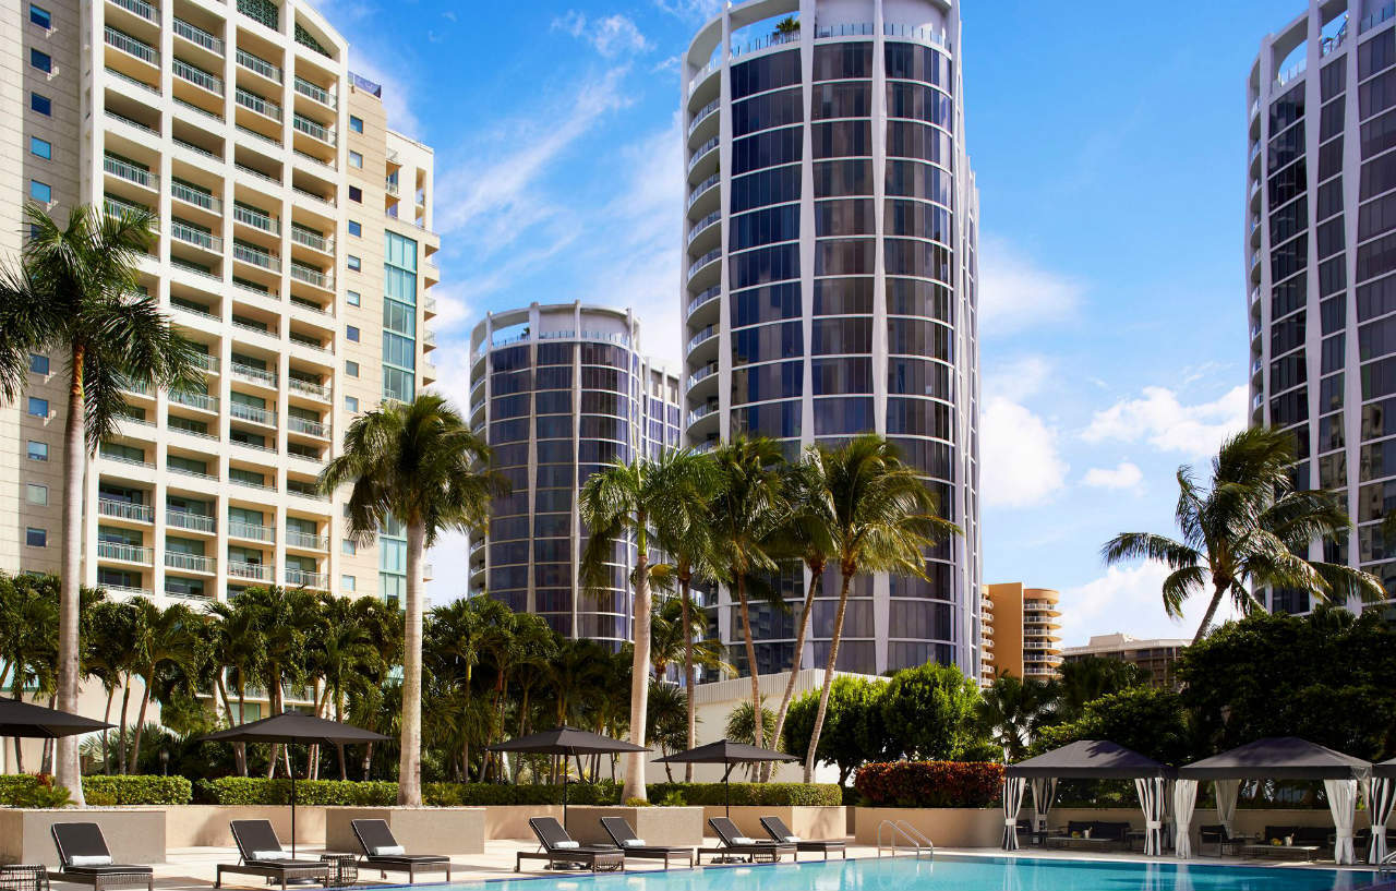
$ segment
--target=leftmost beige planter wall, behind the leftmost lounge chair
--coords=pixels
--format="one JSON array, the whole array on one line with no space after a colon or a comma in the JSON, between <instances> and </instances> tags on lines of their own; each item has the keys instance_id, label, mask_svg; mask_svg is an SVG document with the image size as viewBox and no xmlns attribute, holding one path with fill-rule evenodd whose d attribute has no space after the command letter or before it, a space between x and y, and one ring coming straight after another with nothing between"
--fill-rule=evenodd
<instances>
[{"instance_id":1,"label":"leftmost beige planter wall, behind the leftmost lounge chair","mask_svg":"<svg viewBox=\"0 0 1396 891\"><path fill-rule=\"evenodd\" d=\"M163 807L75 807L21 810L0 807L0 863L59 864L50 827L95 823L119 863L165 862Z\"/></svg>"}]
</instances>

